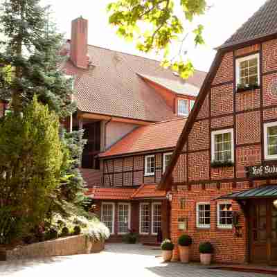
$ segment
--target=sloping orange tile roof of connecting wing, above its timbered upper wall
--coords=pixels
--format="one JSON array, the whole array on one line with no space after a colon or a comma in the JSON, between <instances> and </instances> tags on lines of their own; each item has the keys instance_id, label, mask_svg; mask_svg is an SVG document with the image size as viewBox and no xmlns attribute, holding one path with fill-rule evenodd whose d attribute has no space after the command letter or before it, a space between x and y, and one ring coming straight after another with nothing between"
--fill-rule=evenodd
<instances>
[{"instance_id":1,"label":"sloping orange tile roof of connecting wing, above its timbered upper wall","mask_svg":"<svg viewBox=\"0 0 277 277\"><path fill-rule=\"evenodd\" d=\"M109 150L100 153L99 157L175 148L185 123L186 118L177 118L138 127L112 145Z\"/></svg>"}]
</instances>

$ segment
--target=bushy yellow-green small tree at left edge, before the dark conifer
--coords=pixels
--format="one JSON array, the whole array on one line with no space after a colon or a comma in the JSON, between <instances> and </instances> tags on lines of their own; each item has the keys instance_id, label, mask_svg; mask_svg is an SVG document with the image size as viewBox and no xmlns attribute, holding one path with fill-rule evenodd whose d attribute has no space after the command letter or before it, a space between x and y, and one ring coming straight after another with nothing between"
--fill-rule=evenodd
<instances>
[{"instance_id":1,"label":"bushy yellow-green small tree at left edge, before the dark conifer","mask_svg":"<svg viewBox=\"0 0 277 277\"><path fill-rule=\"evenodd\" d=\"M35 97L0 122L0 243L41 224L60 189L67 150L59 120Z\"/></svg>"}]
</instances>

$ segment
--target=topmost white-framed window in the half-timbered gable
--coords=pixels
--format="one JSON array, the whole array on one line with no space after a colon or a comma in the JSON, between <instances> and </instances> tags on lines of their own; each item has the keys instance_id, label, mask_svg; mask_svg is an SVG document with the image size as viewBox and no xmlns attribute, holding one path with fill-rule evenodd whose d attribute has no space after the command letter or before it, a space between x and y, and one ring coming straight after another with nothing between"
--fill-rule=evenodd
<instances>
[{"instance_id":1,"label":"topmost white-framed window in the half-timbered gable","mask_svg":"<svg viewBox=\"0 0 277 277\"><path fill-rule=\"evenodd\" d=\"M235 60L237 86L249 87L260 84L259 57L257 53Z\"/></svg>"}]
</instances>

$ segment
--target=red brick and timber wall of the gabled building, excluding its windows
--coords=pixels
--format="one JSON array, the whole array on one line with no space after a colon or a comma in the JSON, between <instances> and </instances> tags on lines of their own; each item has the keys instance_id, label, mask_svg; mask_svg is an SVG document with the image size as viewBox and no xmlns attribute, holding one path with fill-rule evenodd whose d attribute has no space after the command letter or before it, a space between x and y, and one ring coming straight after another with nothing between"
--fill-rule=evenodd
<instances>
[{"instance_id":1,"label":"red brick and timber wall of the gabled building, excluding its windows","mask_svg":"<svg viewBox=\"0 0 277 277\"><path fill-rule=\"evenodd\" d=\"M178 172L174 172L172 187L171 237L176 243L180 235L178 218L187 217L188 233L194 241L193 260L199 260L199 243L206 240L211 240L215 246L215 262L247 262L249 259L247 217L242 213L238 203L233 202L233 210L241 215L240 237L235 236L234 229L217 228L216 209L220 200L215 199L235 191L276 184L274 180L249 181L245 175L245 166L265 161L263 124L277 121L277 96L272 93L272 84L276 82L277 77L276 46L277 39L274 39L230 50L223 55L211 84L206 87L204 107L200 108L202 113L194 122L195 126L202 126L199 127L199 134L206 141L202 141L197 147L195 141L190 141L195 140L195 136L189 134L181 152L183 158L179 158L177 166L184 168L181 172L182 178ZM260 88L237 92L235 59L253 53L260 54ZM207 107L208 116L203 116L207 114L203 113ZM235 166L213 169L211 132L227 128L233 128L234 131ZM179 206L181 198L186 200L184 211ZM196 202L211 202L211 228L208 230L196 227ZM174 253L177 258L177 249Z\"/></svg>"}]
</instances>

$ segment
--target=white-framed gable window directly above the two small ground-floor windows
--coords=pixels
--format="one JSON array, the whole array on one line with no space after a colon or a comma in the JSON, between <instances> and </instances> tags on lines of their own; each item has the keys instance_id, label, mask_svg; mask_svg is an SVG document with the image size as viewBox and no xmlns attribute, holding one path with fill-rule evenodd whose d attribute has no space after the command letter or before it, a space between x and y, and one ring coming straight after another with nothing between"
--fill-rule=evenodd
<instances>
[{"instance_id":1,"label":"white-framed gable window directly above the two small ground-floor windows","mask_svg":"<svg viewBox=\"0 0 277 277\"><path fill-rule=\"evenodd\" d=\"M212 132L212 161L234 161L233 129Z\"/></svg>"}]
</instances>

